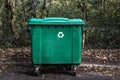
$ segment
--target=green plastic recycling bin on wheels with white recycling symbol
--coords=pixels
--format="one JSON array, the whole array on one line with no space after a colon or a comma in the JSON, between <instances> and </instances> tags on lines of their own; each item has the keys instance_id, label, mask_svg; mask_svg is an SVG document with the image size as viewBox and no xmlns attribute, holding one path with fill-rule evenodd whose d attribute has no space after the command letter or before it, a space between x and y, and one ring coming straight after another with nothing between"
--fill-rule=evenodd
<instances>
[{"instance_id":1,"label":"green plastic recycling bin on wheels with white recycling symbol","mask_svg":"<svg viewBox=\"0 0 120 80\"><path fill-rule=\"evenodd\" d=\"M84 20L68 18L31 18L32 62L38 72L42 65L79 65L82 59Z\"/></svg>"}]
</instances>

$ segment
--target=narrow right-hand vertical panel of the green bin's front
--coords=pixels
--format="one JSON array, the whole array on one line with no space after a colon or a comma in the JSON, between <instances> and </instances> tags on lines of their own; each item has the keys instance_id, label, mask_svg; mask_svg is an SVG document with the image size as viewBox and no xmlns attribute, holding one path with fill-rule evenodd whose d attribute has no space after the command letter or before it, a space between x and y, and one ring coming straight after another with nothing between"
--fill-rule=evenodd
<instances>
[{"instance_id":1,"label":"narrow right-hand vertical panel of the green bin's front","mask_svg":"<svg viewBox=\"0 0 120 80\"><path fill-rule=\"evenodd\" d=\"M73 27L73 64L80 64L82 58L82 27Z\"/></svg>"}]
</instances>

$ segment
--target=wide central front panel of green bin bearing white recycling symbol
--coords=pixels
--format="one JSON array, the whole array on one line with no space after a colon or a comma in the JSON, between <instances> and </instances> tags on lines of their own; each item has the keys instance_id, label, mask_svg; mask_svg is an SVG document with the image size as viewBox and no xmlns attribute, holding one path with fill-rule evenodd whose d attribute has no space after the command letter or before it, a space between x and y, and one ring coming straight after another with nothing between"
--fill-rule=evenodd
<instances>
[{"instance_id":1,"label":"wide central front panel of green bin bearing white recycling symbol","mask_svg":"<svg viewBox=\"0 0 120 80\"><path fill-rule=\"evenodd\" d=\"M64 26L44 26L41 29L42 64L72 63L72 29Z\"/></svg>"}]
</instances>

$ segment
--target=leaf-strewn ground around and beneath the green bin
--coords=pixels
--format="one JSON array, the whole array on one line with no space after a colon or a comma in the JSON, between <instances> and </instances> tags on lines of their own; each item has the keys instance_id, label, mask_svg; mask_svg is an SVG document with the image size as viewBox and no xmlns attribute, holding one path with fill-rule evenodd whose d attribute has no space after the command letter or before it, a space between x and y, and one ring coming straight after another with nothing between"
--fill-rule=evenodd
<instances>
[{"instance_id":1,"label":"leaf-strewn ground around and beneath the green bin","mask_svg":"<svg viewBox=\"0 0 120 80\"><path fill-rule=\"evenodd\" d=\"M0 80L120 80L120 49L83 50L82 56L76 76L54 68L37 77L30 48L0 49Z\"/></svg>"}]
</instances>

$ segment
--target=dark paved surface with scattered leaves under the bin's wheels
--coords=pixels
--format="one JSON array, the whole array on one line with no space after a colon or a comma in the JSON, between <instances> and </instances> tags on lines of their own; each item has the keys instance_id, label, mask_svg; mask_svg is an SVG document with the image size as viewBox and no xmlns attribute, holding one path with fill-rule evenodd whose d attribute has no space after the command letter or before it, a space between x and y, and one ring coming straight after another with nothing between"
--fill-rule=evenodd
<instances>
[{"instance_id":1,"label":"dark paved surface with scattered leaves under the bin's wheels","mask_svg":"<svg viewBox=\"0 0 120 80\"><path fill-rule=\"evenodd\" d=\"M120 76L112 76L87 68L85 70L82 67L76 76L69 71L57 71L56 69L44 70L40 76L36 76L33 67L19 65L1 72L0 80L120 80Z\"/></svg>"}]
</instances>

